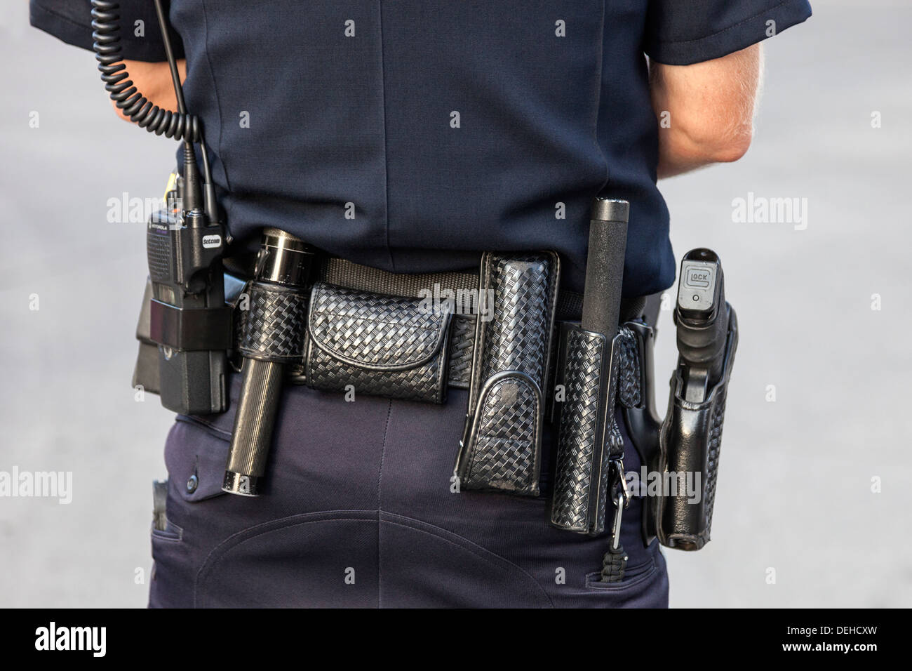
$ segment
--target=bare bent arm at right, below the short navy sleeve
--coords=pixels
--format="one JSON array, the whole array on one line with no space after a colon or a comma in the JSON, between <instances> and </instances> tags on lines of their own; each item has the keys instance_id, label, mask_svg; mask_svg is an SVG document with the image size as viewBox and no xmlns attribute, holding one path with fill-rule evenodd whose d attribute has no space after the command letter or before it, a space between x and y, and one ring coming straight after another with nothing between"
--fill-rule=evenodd
<instances>
[{"instance_id":1,"label":"bare bent arm at right, below the short navy sleeve","mask_svg":"<svg viewBox=\"0 0 912 671\"><path fill-rule=\"evenodd\" d=\"M740 159L751 145L761 77L760 45L689 66L650 63L658 177Z\"/></svg>"}]
</instances>

